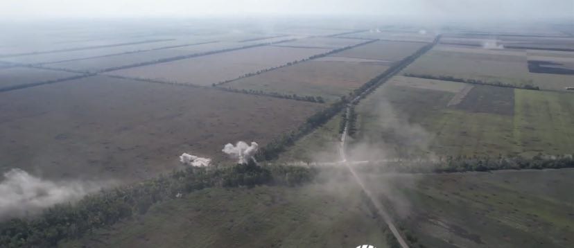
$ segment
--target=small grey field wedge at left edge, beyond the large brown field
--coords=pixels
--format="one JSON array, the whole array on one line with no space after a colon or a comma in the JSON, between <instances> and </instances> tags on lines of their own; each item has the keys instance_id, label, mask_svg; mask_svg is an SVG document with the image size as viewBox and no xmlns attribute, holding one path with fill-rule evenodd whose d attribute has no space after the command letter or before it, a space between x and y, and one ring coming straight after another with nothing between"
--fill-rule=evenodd
<instances>
[{"instance_id":1,"label":"small grey field wedge at left edge, beyond the large brown field","mask_svg":"<svg viewBox=\"0 0 574 248\"><path fill-rule=\"evenodd\" d=\"M78 76L78 74L28 67L4 68L0 69L0 91L10 87L30 85L62 78L71 78L73 76Z\"/></svg>"}]
</instances>

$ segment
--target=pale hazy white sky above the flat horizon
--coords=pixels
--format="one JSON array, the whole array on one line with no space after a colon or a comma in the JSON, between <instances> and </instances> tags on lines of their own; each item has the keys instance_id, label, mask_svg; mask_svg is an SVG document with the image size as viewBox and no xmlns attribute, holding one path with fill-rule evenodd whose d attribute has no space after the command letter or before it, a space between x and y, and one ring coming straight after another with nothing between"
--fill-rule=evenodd
<instances>
[{"instance_id":1,"label":"pale hazy white sky above the flat horizon","mask_svg":"<svg viewBox=\"0 0 574 248\"><path fill-rule=\"evenodd\" d=\"M574 0L0 0L1 19L198 17L211 15L379 17L574 17Z\"/></svg>"}]
</instances>

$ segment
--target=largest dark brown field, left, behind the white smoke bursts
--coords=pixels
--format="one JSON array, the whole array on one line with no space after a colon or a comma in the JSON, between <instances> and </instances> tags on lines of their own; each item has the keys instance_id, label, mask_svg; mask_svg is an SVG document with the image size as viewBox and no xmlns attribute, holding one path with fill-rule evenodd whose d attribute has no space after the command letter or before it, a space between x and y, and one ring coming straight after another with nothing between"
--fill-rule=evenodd
<instances>
[{"instance_id":1,"label":"largest dark brown field, left, behind the white smoke bursts","mask_svg":"<svg viewBox=\"0 0 574 248\"><path fill-rule=\"evenodd\" d=\"M323 105L95 76L0 93L0 170L134 181L189 152L229 161L228 142L265 145Z\"/></svg>"}]
</instances>

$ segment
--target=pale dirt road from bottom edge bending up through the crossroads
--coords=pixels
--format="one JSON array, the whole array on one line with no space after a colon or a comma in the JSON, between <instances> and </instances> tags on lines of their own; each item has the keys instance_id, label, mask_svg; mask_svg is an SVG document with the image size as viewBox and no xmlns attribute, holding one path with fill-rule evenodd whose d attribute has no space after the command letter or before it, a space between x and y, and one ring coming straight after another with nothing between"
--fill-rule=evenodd
<instances>
[{"instance_id":1,"label":"pale dirt road from bottom edge bending up through the crossroads","mask_svg":"<svg viewBox=\"0 0 574 248\"><path fill-rule=\"evenodd\" d=\"M373 193L367 189L365 184L363 184L363 181L361 181L360 178L358 177L355 170L349 165L349 163L347 163L347 155L345 155L345 140L347 139L347 128L349 127L349 108L350 108L350 106L347 106L347 110L345 113L345 115L347 116L347 122L345 123L345 129L343 130L343 133L341 135L341 143L340 143L340 148L339 148L342 162L345 164L345 166L347 166L347 168L349 169L349 171L351 172L351 174L353 175L353 177L355 178L355 180L359 184L360 188L363 189L363 192L365 192L367 197L369 197L371 202L374 204L375 208L379 212L379 215L381 215L381 217L383 217L383 220L385 221L385 223L387 224L387 226L391 230L394 238L397 238L397 241L399 242L401 247L408 248L407 242L405 242L405 240L401 236L401 233L399 233L399 230L397 229L397 227L394 226L392 219L390 218L390 215L385 211L385 208L383 207L383 205L379 201L375 200Z\"/></svg>"}]
</instances>

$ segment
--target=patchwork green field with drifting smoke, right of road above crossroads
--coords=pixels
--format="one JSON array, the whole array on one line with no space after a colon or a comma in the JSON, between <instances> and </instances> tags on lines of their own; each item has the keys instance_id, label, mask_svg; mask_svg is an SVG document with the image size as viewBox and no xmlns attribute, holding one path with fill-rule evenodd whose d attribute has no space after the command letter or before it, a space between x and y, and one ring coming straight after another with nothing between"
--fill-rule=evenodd
<instances>
[{"instance_id":1,"label":"patchwork green field with drifting smoke, right of road above crossroads","mask_svg":"<svg viewBox=\"0 0 574 248\"><path fill-rule=\"evenodd\" d=\"M358 105L353 142L359 148L367 143L390 157L415 150L532 156L570 154L574 148L574 100L568 93L409 80L394 79Z\"/></svg>"}]
</instances>

